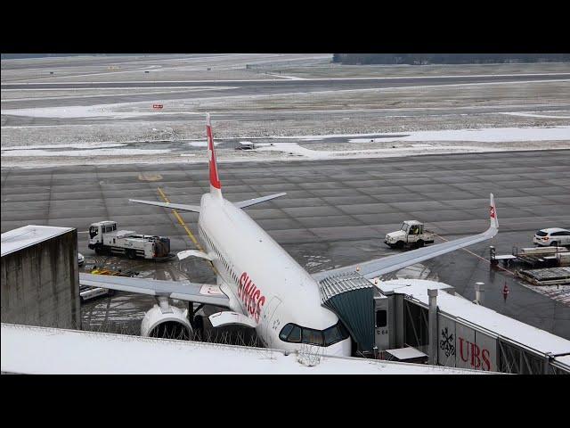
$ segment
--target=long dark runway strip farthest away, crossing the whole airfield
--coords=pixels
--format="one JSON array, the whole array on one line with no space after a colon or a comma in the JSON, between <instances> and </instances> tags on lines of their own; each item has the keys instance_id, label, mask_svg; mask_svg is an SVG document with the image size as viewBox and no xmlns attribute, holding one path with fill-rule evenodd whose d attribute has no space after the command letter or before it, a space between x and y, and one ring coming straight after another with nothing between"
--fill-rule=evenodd
<instances>
[{"instance_id":1,"label":"long dark runway strip farthest away, crossing the whole airfield","mask_svg":"<svg viewBox=\"0 0 570 428\"><path fill-rule=\"evenodd\" d=\"M219 96L240 95L284 95L297 93L322 93L338 91L354 91L379 88L396 88L407 86L445 86L472 85L501 82L532 82L544 80L566 80L569 73L535 73L490 76L441 76L411 78L307 78L290 79L249 79L249 80L178 80L178 81L110 81L110 82L59 82L59 83L3 83L2 90L80 90L105 89L113 91L129 88L152 88L153 90L176 89L165 94L127 94L101 95L85 97L81 95L66 96L57 100L58 106L93 105L104 103L136 103L152 101L157 98L167 100L210 98ZM184 90L187 87L188 90ZM48 107L54 105L53 100L34 99L22 101L3 100L3 109L24 109Z\"/></svg>"}]
</instances>

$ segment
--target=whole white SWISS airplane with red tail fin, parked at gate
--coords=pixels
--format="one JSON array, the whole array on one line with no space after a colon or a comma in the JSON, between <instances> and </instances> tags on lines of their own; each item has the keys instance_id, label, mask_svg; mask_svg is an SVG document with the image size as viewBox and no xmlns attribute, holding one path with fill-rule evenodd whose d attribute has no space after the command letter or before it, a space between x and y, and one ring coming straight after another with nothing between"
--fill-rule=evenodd
<instances>
[{"instance_id":1,"label":"whole white SWISS airplane with red tail fin, parked at gate","mask_svg":"<svg viewBox=\"0 0 570 428\"><path fill-rule=\"evenodd\" d=\"M371 287L370 280L380 275L488 240L499 230L491 193L490 226L484 233L310 275L243 210L286 193L242 202L224 199L209 114L206 130L210 192L202 195L199 206L129 201L198 212L199 239L206 252L182 251L179 257L210 260L216 268L217 284L89 274L79 277L82 285L156 296L159 304L142 320L143 336L176 328L191 331L187 312L168 304L168 299L179 299L230 309L211 315L212 325L255 328L268 347L295 351L310 344L322 347L323 354L350 356L354 353L351 335L358 332L339 318L338 311L333 311L332 297L339 292Z\"/></svg>"}]
</instances>

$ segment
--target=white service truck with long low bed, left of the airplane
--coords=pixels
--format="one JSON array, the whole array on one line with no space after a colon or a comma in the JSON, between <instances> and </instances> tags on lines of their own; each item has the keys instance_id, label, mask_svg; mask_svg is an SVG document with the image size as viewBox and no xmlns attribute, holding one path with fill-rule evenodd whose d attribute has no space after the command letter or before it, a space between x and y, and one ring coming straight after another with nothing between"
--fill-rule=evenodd
<instances>
[{"instance_id":1,"label":"white service truck with long low bed, left of the airplane","mask_svg":"<svg viewBox=\"0 0 570 428\"><path fill-rule=\"evenodd\" d=\"M100 221L89 226L89 249L97 254L125 255L129 259L160 259L170 252L164 236L136 235L132 230L117 230L116 221Z\"/></svg>"}]
</instances>

